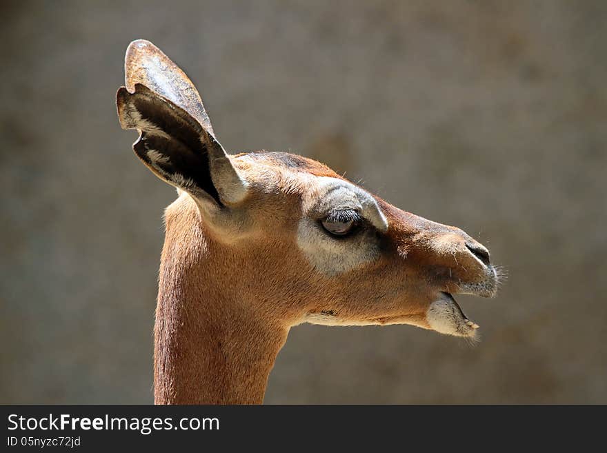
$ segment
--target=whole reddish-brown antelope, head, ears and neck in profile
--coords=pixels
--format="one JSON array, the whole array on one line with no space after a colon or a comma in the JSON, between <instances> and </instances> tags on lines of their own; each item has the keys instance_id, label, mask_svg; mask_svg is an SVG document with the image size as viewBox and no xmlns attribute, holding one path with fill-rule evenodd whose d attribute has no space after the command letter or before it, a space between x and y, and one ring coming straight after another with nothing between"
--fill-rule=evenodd
<instances>
[{"instance_id":1,"label":"whole reddish-brown antelope, head, ears and neck in profile","mask_svg":"<svg viewBox=\"0 0 607 453\"><path fill-rule=\"evenodd\" d=\"M155 312L157 404L263 403L290 328L409 324L474 339L452 294L495 296L489 252L326 165L228 154L186 74L130 43L117 92L137 157L177 188Z\"/></svg>"}]
</instances>

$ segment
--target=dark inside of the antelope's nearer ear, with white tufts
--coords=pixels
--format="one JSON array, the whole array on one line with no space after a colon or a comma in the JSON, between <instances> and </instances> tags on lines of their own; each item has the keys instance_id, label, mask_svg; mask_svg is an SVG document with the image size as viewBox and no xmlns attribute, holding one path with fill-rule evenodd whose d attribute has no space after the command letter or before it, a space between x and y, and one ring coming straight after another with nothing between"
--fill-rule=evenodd
<instances>
[{"instance_id":1,"label":"dark inside of the antelope's nearer ear, with white tufts","mask_svg":"<svg viewBox=\"0 0 607 453\"><path fill-rule=\"evenodd\" d=\"M222 205L210 159L226 154L196 119L140 83L134 92L120 88L117 106L122 128L139 131L133 149L152 172L193 197Z\"/></svg>"}]
</instances>

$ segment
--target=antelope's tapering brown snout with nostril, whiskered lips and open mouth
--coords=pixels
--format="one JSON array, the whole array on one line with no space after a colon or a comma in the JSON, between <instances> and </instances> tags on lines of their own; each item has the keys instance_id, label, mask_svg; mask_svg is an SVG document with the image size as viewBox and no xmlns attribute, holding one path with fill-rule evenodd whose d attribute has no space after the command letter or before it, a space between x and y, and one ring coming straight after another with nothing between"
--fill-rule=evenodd
<instances>
[{"instance_id":1,"label":"antelope's tapering brown snout with nostril, whiskered lips and open mouth","mask_svg":"<svg viewBox=\"0 0 607 453\"><path fill-rule=\"evenodd\" d=\"M492 264L489 250L460 228L424 219L387 203L381 208L389 214L388 236L406 263L404 268L415 269L415 277L421 276L423 281L416 288L419 318L408 315L402 318L407 321L402 322L475 338L479 326L462 312L454 295L497 294L501 270L498 272Z\"/></svg>"}]
</instances>

